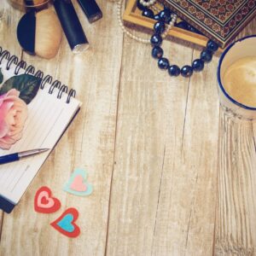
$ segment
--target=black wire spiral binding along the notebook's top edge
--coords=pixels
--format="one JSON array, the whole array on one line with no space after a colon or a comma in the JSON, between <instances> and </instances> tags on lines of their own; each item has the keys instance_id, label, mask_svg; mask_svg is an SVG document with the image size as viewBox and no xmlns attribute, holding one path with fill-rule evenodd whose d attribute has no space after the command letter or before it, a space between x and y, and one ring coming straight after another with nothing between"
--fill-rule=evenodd
<instances>
[{"instance_id":1,"label":"black wire spiral binding along the notebook's top edge","mask_svg":"<svg viewBox=\"0 0 256 256\"><path fill-rule=\"evenodd\" d=\"M53 80L52 76L49 74L44 75L44 73L41 70L38 70L36 72L35 67L32 65L29 65L26 67L26 61L19 61L19 58L16 55L11 55L10 52L6 49L2 49L0 46L0 64L2 63L3 59L7 60L6 69L9 70L9 68L12 65L15 65L15 75L18 75L20 72L20 68L25 69L26 74L32 74L33 76L41 79L40 89L44 90L44 85L46 83L50 84L49 86L49 94L52 94L55 89L58 89L57 98L61 99L61 96L63 93L67 94L67 103L70 102L72 97L76 96L76 90L70 89L68 90L67 85L61 84L59 80Z\"/></svg>"}]
</instances>

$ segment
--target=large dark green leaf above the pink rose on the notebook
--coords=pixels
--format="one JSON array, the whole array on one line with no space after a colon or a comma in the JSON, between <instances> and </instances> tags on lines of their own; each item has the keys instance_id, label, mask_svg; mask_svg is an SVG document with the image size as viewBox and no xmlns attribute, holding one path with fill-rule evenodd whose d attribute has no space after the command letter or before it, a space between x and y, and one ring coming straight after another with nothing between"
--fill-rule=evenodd
<instances>
[{"instance_id":1,"label":"large dark green leaf above the pink rose on the notebook","mask_svg":"<svg viewBox=\"0 0 256 256\"><path fill-rule=\"evenodd\" d=\"M14 76L4 82L0 89L0 95L7 93L11 89L16 89L20 91L20 99L29 104L37 95L40 83L41 79L30 74Z\"/></svg>"}]
</instances>

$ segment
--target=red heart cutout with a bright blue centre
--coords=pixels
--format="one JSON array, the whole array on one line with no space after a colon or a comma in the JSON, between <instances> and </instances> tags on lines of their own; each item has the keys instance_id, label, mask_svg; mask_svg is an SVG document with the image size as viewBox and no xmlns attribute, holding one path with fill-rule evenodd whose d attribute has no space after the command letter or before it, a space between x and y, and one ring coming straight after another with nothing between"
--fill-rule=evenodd
<instances>
[{"instance_id":1,"label":"red heart cutout with a bright blue centre","mask_svg":"<svg viewBox=\"0 0 256 256\"><path fill-rule=\"evenodd\" d=\"M79 218L79 212L75 208L68 208L50 225L68 237L77 237L80 234L80 229L75 221Z\"/></svg>"}]
</instances>

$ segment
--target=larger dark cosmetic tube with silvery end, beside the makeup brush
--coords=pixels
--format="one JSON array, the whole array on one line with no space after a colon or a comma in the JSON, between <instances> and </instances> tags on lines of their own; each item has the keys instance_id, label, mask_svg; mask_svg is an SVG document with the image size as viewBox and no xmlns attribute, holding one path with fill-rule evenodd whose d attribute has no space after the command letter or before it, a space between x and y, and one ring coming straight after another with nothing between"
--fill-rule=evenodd
<instances>
[{"instance_id":1,"label":"larger dark cosmetic tube with silvery end, beside the makeup brush","mask_svg":"<svg viewBox=\"0 0 256 256\"><path fill-rule=\"evenodd\" d=\"M61 21L68 44L74 53L88 49L89 43L84 34L79 17L71 0L55 0L55 11Z\"/></svg>"}]
</instances>

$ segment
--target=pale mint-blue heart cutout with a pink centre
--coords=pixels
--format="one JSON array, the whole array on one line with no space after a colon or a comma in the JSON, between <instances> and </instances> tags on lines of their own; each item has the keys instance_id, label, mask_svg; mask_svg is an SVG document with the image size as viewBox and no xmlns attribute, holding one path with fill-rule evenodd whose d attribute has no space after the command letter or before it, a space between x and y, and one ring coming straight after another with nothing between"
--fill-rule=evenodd
<instances>
[{"instance_id":1,"label":"pale mint-blue heart cutout with a pink centre","mask_svg":"<svg viewBox=\"0 0 256 256\"><path fill-rule=\"evenodd\" d=\"M84 170L76 169L64 186L64 190L73 195L90 195L92 192L92 185L86 182L86 178L87 173Z\"/></svg>"}]
</instances>

